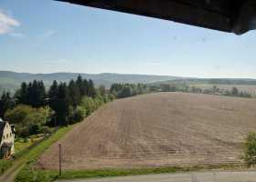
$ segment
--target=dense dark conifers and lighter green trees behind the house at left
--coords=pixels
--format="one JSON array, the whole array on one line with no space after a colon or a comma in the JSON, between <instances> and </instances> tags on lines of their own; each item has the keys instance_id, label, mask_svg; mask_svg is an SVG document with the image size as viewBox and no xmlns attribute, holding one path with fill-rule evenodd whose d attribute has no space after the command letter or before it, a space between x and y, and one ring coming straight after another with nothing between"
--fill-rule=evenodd
<instances>
[{"instance_id":1,"label":"dense dark conifers and lighter green trees behind the house at left","mask_svg":"<svg viewBox=\"0 0 256 182\"><path fill-rule=\"evenodd\" d=\"M0 99L0 117L16 124L17 134L29 136L50 126L67 126L109 102L113 96L104 86L78 76L69 83L53 81L47 90L42 81L22 83L14 96L4 92Z\"/></svg>"}]
</instances>

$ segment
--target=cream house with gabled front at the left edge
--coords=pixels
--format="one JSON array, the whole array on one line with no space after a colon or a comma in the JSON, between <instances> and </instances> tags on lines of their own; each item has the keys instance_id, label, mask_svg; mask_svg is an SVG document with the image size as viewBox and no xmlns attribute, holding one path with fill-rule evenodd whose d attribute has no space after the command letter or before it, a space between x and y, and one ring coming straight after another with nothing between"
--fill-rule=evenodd
<instances>
[{"instance_id":1,"label":"cream house with gabled front at the left edge","mask_svg":"<svg viewBox=\"0 0 256 182\"><path fill-rule=\"evenodd\" d=\"M0 158L10 158L15 154L15 126L0 118Z\"/></svg>"}]
</instances>

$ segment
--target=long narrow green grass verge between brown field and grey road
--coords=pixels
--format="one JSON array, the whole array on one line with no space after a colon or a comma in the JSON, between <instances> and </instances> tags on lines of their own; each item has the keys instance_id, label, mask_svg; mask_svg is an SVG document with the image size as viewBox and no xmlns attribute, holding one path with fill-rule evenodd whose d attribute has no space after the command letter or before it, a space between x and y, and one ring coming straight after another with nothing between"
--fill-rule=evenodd
<instances>
[{"instance_id":1,"label":"long narrow green grass verge between brown field and grey road","mask_svg":"<svg viewBox=\"0 0 256 182\"><path fill-rule=\"evenodd\" d=\"M57 170L37 170L30 163L22 170L22 175L16 178L18 182L51 182L55 179L70 179L70 178L91 178L91 177L124 177L148 174L162 174L175 172L188 172L207 169L236 169L243 168L242 165L219 165L219 166L197 166L197 167L157 167L157 168L130 168L130 169L96 169L96 170L77 170L63 171L59 176Z\"/></svg>"}]
</instances>

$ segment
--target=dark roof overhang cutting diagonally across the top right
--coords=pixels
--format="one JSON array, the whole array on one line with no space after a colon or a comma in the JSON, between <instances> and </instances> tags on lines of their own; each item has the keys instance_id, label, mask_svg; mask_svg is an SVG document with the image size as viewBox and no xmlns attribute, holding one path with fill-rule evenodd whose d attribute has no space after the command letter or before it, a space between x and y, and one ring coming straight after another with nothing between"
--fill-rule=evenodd
<instances>
[{"instance_id":1,"label":"dark roof overhang cutting diagonally across the top right","mask_svg":"<svg viewBox=\"0 0 256 182\"><path fill-rule=\"evenodd\" d=\"M256 29L255 0L58 0L235 34Z\"/></svg>"}]
</instances>

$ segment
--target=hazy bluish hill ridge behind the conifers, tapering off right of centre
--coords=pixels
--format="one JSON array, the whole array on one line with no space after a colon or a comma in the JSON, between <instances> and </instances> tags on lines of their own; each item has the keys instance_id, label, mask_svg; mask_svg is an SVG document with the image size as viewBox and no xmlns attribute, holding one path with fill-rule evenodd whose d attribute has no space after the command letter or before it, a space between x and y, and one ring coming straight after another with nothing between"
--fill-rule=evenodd
<instances>
[{"instance_id":1,"label":"hazy bluish hill ridge behind the conifers, tapering off right of centre","mask_svg":"<svg viewBox=\"0 0 256 182\"><path fill-rule=\"evenodd\" d=\"M92 79L96 86L110 87L113 83L153 83L178 79L177 76L148 76L148 75L124 75L124 74L80 74L80 73L52 73L52 74L29 74L11 71L0 71L0 93L5 89L14 93L22 82L43 80L46 86L50 86L53 80L69 82L81 75L83 78Z\"/></svg>"}]
</instances>

